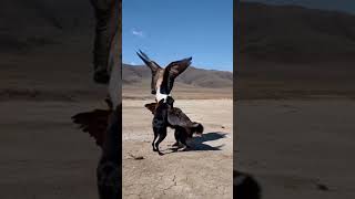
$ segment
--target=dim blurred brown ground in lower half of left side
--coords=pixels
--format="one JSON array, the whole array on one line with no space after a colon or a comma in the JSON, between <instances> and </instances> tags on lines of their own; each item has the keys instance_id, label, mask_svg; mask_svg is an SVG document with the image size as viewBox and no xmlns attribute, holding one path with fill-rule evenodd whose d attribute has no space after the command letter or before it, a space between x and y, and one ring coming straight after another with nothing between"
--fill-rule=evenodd
<instances>
[{"instance_id":1,"label":"dim blurred brown ground in lower half of left side","mask_svg":"<svg viewBox=\"0 0 355 199\"><path fill-rule=\"evenodd\" d=\"M100 148L71 123L95 102L0 102L0 198L97 199Z\"/></svg>"}]
</instances>

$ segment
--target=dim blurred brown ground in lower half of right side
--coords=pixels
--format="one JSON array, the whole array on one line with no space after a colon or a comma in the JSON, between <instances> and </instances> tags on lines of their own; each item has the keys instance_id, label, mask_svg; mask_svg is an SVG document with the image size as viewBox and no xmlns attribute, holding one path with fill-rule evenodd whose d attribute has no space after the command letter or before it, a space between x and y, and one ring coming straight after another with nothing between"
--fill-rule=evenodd
<instances>
[{"instance_id":1,"label":"dim blurred brown ground in lower half of right side","mask_svg":"<svg viewBox=\"0 0 355 199\"><path fill-rule=\"evenodd\" d=\"M355 198L355 101L240 101L234 166L263 199Z\"/></svg>"}]
</instances>

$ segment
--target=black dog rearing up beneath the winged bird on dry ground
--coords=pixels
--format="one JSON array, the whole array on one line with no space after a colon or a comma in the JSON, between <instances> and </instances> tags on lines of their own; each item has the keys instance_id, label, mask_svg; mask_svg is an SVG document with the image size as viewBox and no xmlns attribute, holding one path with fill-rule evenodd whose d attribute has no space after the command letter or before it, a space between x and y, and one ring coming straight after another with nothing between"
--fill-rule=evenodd
<instances>
[{"instance_id":1,"label":"black dog rearing up beneath the winged bird on dry ground","mask_svg":"<svg viewBox=\"0 0 355 199\"><path fill-rule=\"evenodd\" d=\"M166 127L175 129L174 136L176 143L173 146L179 146L179 143L183 144L186 148L190 146L186 144L187 138L192 138L193 134L201 135L203 133L203 126L200 123L191 122L186 114L180 108L173 106L174 100L171 96L166 97L166 102L161 100L159 103L145 104L145 107L154 114L153 130L154 139L152 143L153 150L163 155L159 150L159 144L166 137ZM155 143L159 136L158 142Z\"/></svg>"}]
</instances>

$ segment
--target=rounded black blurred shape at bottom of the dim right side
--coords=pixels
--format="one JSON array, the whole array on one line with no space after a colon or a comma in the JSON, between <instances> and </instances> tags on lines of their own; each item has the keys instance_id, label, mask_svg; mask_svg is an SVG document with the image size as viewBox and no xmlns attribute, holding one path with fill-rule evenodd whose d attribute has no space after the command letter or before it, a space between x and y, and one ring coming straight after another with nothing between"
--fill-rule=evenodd
<instances>
[{"instance_id":1,"label":"rounded black blurred shape at bottom of the dim right side","mask_svg":"<svg viewBox=\"0 0 355 199\"><path fill-rule=\"evenodd\" d=\"M233 170L233 198L261 199L261 188L250 175Z\"/></svg>"}]
</instances>

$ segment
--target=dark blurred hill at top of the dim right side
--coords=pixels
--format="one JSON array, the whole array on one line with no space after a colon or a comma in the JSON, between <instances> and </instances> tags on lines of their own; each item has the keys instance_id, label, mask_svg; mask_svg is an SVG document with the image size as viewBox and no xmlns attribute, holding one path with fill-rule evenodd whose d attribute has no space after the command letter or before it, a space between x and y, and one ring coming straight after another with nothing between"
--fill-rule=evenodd
<instances>
[{"instance_id":1,"label":"dark blurred hill at top of the dim right side","mask_svg":"<svg viewBox=\"0 0 355 199\"><path fill-rule=\"evenodd\" d=\"M355 60L352 14L241 2L239 22L242 59L288 63Z\"/></svg>"}]
</instances>

